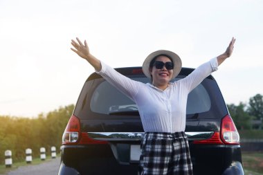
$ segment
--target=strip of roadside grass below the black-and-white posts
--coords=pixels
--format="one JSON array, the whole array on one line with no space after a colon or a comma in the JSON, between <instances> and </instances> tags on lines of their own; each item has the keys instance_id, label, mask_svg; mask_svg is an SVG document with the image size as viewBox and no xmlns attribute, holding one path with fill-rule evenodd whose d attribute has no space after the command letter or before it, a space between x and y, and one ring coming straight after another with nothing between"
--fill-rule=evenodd
<instances>
[{"instance_id":1,"label":"strip of roadside grass below the black-and-white posts","mask_svg":"<svg viewBox=\"0 0 263 175\"><path fill-rule=\"evenodd\" d=\"M59 157L60 154L57 154L57 157ZM46 156L46 160L41 160L40 158L33 158L32 163L26 163L26 160L23 162L17 162L17 163L12 163L12 167L6 167L6 165L0 165L0 175L1 174L7 174L8 172L17 169L18 167L21 166L26 166L26 165L39 165L40 163L47 162L49 160L52 160L51 156Z\"/></svg>"}]
</instances>

